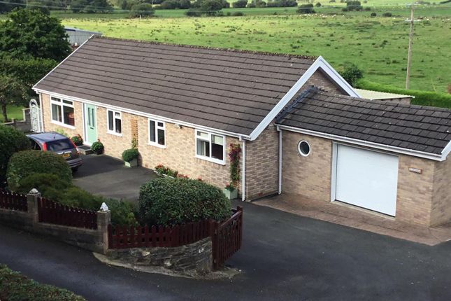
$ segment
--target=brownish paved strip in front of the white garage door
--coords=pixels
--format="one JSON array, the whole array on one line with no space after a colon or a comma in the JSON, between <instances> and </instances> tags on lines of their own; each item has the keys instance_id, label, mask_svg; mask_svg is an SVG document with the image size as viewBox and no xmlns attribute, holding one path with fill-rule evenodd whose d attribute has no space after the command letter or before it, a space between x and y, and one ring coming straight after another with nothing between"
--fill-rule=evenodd
<instances>
[{"instance_id":1,"label":"brownish paved strip in front of the white garage door","mask_svg":"<svg viewBox=\"0 0 451 301\"><path fill-rule=\"evenodd\" d=\"M307 200L299 195L282 193L282 195L265 197L253 203L299 216L307 216L429 246L451 240L451 223L433 228L411 225L341 202L317 202Z\"/></svg>"}]
</instances>

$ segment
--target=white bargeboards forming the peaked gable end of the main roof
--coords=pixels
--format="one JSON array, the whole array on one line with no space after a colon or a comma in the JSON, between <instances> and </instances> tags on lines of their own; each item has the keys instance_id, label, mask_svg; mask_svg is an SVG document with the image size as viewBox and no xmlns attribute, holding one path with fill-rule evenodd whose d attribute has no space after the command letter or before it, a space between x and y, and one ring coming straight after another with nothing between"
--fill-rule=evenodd
<instances>
[{"instance_id":1,"label":"white bargeboards forming the peaked gable end of the main roof","mask_svg":"<svg viewBox=\"0 0 451 301\"><path fill-rule=\"evenodd\" d=\"M277 116L280 111L282 111L283 108L289 103L291 99L293 99L294 95L296 95L299 90L301 90L301 87L305 85L310 77L313 76L313 73L317 71L317 69L322 69L324 73L327 74L331 78L331 80L334 80L334 82L340 86L343 90L345 90L346 93L348 93L352 97L360 97L360 95L355 92L354 88L346 82L346 80L343 79L343 77L338 74L338 72L332 68L332 66L326 62L326 60L322 57L318 57L315 62L307 69L306 73L303 73L301 78L293 85L291 89L287 92L287 94L280 99L278 104L276 104L273 109L269 112L269 114L262 120L261 123L255 128L255 130L252 131L250 134L250 140L255 140L257 137L259 137L259 134L262 134L264 129L268 127L268 125L271 123L271 121Z\"/></svg>"}]
</instances>

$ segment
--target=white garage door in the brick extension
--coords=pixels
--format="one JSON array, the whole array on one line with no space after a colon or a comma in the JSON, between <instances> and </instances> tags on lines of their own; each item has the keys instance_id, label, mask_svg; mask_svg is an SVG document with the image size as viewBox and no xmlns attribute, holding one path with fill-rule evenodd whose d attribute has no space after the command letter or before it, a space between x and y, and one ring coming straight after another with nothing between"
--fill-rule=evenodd
<instances>
[{"instance_id":1,"label":"white garage door in the brick extension","mask_svg":"<svg viewBox=\"0 0 451 301\"><path fill-rule=\"evenodd\" d=\"M397 156L337 145L337 201L395 216L397 184Z\"/></svg>"}]
</instances>

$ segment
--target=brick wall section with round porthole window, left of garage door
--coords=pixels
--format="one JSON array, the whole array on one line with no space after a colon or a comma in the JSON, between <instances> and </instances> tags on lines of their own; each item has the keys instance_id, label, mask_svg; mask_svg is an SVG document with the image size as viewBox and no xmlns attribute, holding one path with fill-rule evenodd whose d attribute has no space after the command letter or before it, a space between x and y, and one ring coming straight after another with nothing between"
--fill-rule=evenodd
<instances>
[{"instance_id":1,"label":"brick wall section with round porthole window, left of garage door","mask_svg":"<svg viewBox=\"0 0 451 301\"><path fill-rule=\"evenodd\" d=\"M299 141L310 144L310 155L299 154ZM282 132L282 192L308 200L331 200L332 142L295 132Z\"/></svg>"}]
</instances>

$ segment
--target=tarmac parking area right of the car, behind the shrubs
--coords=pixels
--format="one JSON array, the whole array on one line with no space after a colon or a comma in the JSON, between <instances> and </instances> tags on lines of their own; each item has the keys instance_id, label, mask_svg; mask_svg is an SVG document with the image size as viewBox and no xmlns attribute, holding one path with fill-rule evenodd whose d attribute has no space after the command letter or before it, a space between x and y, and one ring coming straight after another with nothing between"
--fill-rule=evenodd
<instances>
[{"instance_id":1,"label":"tarmac parking area right of the car, behind the shrubs","mask_svg":"<svg viewBox=\"0 0 451 301\"><path fill-rule=\"evenodd\" d=\"M83 155L83 165L73 174L76 186L115 199L138 200L139 188L157 175L143 167L125 167L106 155Z\"/></svg>"}]
</instances>

